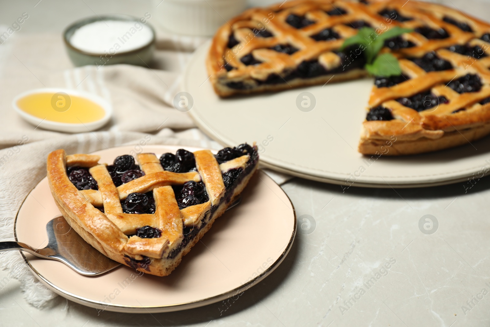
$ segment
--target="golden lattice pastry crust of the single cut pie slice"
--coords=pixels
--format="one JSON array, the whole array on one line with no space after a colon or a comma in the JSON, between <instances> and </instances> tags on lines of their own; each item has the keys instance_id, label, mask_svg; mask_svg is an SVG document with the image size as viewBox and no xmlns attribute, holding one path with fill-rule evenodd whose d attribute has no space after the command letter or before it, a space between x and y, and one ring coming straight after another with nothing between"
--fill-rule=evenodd
<instances>
[{"instance_id":1,"label":"golden lattice pastry crust of the single cut pie slice","mask_svg":"<svg viewBox=\"0 0 490 327\"><path fill-rule=\"evenodd\" d=\"M258 157L252 159L248 154L221 164L209 150L196 151L194 156L196 172L173 173L164 171L155 154L138 154L145 175L116 187L107 166L98 163L98 155L66 155L56 150L48 155L49 187L67 222L99 252L144 273L167 276L240 195L258 167ZM78 190L73 185L67 167L75 166L89 168L98 190ZM226 188L222 173L232 169L241 169L241 173ZM191 180L204 183L209 201L179 209L172 185ZM129 194L147 192L155 200L154 214L123 213L121 201ZM103 212L97 208L102 206ZM134 235L142 226L159 229L161 236Z\"/></svg>"}]
</instances>

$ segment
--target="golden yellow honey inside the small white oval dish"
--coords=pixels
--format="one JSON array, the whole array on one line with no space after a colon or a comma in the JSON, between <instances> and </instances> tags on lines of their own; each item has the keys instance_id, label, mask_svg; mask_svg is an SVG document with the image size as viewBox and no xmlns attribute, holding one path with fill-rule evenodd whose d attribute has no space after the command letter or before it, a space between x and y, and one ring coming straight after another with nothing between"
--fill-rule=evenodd
<instances>
[{"instance_id":1,"label":"golden yellow honey inside the small white oval dish","mask_svg":"<svg viewBox=\"0 0 490 327\"><path fill-rule=\"evenodd\" d=\"M94 101L64 92L30 94L19 99L17 106L32 116L58 123L92 123L105 115Z\"/></svg>"}]
</instances>

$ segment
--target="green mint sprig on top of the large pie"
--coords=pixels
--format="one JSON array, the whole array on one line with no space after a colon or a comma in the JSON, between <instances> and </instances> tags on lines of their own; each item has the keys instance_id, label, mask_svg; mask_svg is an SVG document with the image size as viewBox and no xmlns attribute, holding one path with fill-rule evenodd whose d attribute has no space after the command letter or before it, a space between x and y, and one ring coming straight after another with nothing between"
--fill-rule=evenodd
<instances>
[{"instance_id":1,"label":"green mint sprig on top of the large pie","mask_svg":"<svg viewBox=\"0 0 490 327\"><path fill-rule=\"evenodd\" d=\"M369 74L383 77L398 76L401 75L401 68L396 57L391 53L379 55L378 53L383 48L386 40L412 31L413 29L410 28L394 26L378 35L373 28L362 27L356 35L345 39L340 50L357 44L364 52L366 57L364 68Z\"/></svg>"}]
</instances>

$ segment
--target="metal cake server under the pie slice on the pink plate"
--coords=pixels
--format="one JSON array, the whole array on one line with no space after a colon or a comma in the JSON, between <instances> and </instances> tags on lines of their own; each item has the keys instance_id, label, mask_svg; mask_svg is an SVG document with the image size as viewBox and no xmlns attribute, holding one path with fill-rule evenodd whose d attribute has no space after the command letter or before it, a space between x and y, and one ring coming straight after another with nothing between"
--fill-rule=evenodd
<instances>
[{"instance_id":1,"label":"metal cake server under the pie slice on the pink plate","mask_svg":"<svg viewBox=\"0 0 490 327\"><path fill-rule=\"evenodd\" d=\"M241 197L238 197L226 210L239 204L241 200ZM22 242L6 241L0 242L0 252L21 250L39 258L58 260L85 276L97 276L121 265L88 244L62 215L51 219L46 224L46 231L48 245L44 249L36 250Z\"/></svg>"}]
</instances>

